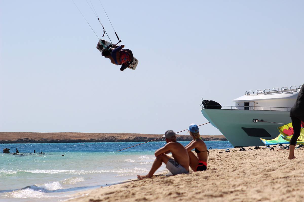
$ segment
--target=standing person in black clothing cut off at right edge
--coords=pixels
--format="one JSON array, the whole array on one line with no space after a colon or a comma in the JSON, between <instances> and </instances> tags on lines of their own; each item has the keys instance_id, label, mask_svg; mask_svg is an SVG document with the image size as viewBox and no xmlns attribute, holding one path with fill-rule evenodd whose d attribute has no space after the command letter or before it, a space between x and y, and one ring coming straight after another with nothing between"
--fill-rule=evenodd
<instances>
[{"instance_id":1,"label":"standing person in black clothing cut off at right edge","mask_svg":"<svg viewBox=\"0 0 304 202\"><path fill-rule=\"evenodd\" d=\"M288 159L293 159L295 158L294 155L295 144L301 132L301 121L304 122L304 84L302 85L302 88L298 94L295 104L290 109L289 116L292 122L293 135L290 140Z\"/></svg>"}]
</instances>

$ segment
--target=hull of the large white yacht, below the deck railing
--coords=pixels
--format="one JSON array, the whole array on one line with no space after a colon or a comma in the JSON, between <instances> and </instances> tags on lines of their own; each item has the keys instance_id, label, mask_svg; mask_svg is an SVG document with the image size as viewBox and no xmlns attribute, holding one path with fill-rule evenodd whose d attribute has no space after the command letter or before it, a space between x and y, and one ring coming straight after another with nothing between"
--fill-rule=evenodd
<instances>
[{"instance_id":1,"label":"hull of the large white yacht, below the deck railing","mask_svg":"<svg viewBox=\"0 0 304 202\"><path fill-rule=\"evenodd\" d=\"M234 147L262 146L260 138L278 136L282 124L252 122L253 119L290 123L289 111L202 109L204 117L227 138Z\"/></svg>"}]
</instances>

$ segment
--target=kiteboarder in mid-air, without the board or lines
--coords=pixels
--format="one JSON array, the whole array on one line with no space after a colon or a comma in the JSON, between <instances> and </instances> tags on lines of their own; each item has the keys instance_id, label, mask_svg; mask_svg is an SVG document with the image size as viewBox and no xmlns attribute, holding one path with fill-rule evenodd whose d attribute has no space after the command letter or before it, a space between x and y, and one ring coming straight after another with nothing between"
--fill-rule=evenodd
<instances>
[{"instance_id":1,"label":"kiteboarder in mid-air, without the board or lines","mask_svg":"<svg viewBox=\"0 0 304 202\"><path fill-rule=\"evenodd\" d=\"M129 49L123 49L125 45L120 45L110 50L104 48L101 55L110 58L114 65L121 65L120 71L125 70L134 60L133 53Z\"/></svg>"}]
</instances>

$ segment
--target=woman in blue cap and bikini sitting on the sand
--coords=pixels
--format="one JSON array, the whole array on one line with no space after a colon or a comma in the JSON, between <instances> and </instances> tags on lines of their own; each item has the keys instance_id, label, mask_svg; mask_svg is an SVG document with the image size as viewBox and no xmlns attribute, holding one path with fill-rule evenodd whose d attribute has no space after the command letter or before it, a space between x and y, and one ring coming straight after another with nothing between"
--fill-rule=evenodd
<instances>
[{"instance_id":1,"label":"woman in blue cap and bikini sitting on the sand","mask_svg":"<svg viewBox=\"0 0 304 202\"><path fill-rule=\"evenodd\" d=\"M208 150L206 144L199 135L199 127L196 124L191 124L188 129L190 136L193 140L185 147L190 160L190 167L193 171L206 171L207 170L207 159L208 159ZM192 149L197 154L192 153Z\"/></svg>"}]
</instances>

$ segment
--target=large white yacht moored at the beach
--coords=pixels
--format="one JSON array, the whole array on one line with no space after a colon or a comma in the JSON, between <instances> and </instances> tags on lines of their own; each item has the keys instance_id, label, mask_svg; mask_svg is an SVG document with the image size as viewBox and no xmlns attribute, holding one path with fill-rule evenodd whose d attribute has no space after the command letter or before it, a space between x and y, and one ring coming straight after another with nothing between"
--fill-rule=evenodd
<instances>
[{"instance_id":1,"label":"large white yacht moored at the beach","mask_svg":"<svg viewBox=\"0 0 304 202\"><path fill-rule=\"evenodd\" d=\"M280 124L257 122L253 119L290 123L290 108L294 105L301 86L246 91L233 100L234 106L221 109L204 108L204 117L227 138L234 147L264 145L260 138L273 139L278 136ZM281 124L282 125L282 124Z\"/></svg>"}]
</instances>

